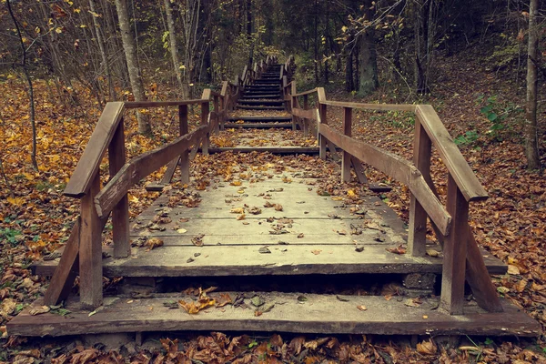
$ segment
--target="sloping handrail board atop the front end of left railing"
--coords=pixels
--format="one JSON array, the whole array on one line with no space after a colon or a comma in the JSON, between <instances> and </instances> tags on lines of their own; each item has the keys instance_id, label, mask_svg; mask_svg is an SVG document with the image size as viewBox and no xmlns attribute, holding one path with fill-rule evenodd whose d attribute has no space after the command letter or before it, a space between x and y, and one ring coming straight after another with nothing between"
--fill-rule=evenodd
<instances>
[{"instance_id":1,"label":"sloping handrail board atop the front end of left railing","mask_svg":"<svg viewBox=\"0 0 546 364\"><path fill-rule=\"evenodd\" d=\"M76 170L66 185L64 192L66 196L80 198L86 194L98 172L102 157L105 156L110 141L114 137L116 127L123 118L124 111L123 102L109 102L106 104L87 143L84 154L77 162Z\"/></svg>"}]
</instances>

